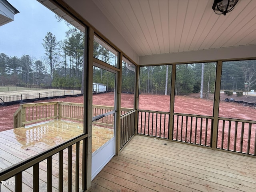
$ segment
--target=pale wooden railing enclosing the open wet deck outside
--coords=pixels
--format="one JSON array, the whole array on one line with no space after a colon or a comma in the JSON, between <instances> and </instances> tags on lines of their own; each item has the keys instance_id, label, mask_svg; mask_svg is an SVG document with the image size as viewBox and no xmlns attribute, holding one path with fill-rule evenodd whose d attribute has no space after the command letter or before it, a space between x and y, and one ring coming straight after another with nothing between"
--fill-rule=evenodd
<instances>
[{"instance_id":1,"label":"pale wooden railing enclosing the open wet deck outside","mask_svg":"<svg viewBox=\"0 0 256 192\"><path fill-rule=\"evenodd\" d=\"M93 105L93 116L114 110L111 106ZM121 108L121 114L129 112L130 108ZM51 119L67 119L78 122L84 121L84 104L71 102L41 102L20 104L14 113L14 128L24 127L27 124L42 122ZM113 124L113 116L106 116L96 124Z\"/></svg>"}]
</instances>

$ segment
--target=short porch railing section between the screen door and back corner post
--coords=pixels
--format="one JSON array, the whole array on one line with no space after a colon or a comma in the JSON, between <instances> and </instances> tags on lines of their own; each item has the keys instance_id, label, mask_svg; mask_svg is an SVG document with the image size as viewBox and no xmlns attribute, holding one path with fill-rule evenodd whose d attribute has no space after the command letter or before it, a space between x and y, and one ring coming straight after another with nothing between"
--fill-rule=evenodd
<instances>
[{"instance_id":1,"label":"short porch railing section between the screen door and back corner post","mask_svg":"<svg viewBox=\"0 0 256 192\"><path fill-rule=\"evenodd\" d=\"M135 112L132 110L121 115L120 149L132 138L135 133Z\"/></svg>"}]
</instances>

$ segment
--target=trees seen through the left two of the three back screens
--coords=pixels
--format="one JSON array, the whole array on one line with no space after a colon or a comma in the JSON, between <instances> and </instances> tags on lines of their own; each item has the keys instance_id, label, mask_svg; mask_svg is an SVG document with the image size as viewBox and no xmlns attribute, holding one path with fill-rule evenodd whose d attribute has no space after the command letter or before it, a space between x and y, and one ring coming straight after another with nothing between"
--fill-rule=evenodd
<instances>
[{"instance_id":1,"label":"trees seen through the left two of the three back screens","mask_svg":"<svg viewBox=\"0 0 256 192\"><path fill-rule=\"evenodd\" d=\"M175 94L198 93L202 88L203 97L207 98L210 92L214 92L215 72L216 63L176 65ZM171 78L171 66L141 67L140 93L170 95Z\"/></svg>"}]
</instances>

